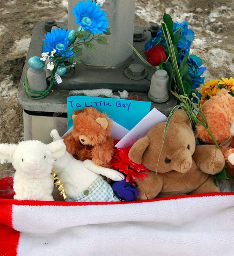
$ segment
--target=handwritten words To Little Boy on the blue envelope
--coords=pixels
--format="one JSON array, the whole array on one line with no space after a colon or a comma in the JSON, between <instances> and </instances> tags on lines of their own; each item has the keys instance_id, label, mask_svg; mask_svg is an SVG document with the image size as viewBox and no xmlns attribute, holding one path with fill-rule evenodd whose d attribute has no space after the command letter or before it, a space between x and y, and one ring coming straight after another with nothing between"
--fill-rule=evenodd
<instances>
[{"instance_id":1,"label":"handwritten words To Little Boy on the blue envelope","mask_svg":"<svg viewBox=\"0 0 234 256\"><path fill-rule=\"evenodd\" d=\"M112 103L112 104L111 104ZM121 109L126 109L129 111L130 106L132 103L123 103L120 101L117 101L115 103L113 102L105 102L105 101L98 101L98 102L76 102L76 101L68 101L68 104L70 104L71 108L83 108L83 107L117 107Z\"/></svg>"}]
</instances>

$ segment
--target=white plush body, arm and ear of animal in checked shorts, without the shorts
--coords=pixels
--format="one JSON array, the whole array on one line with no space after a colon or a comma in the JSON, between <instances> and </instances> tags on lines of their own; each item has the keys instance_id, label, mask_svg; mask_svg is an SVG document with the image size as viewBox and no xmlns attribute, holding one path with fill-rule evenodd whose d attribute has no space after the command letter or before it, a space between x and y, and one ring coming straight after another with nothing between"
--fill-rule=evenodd
<instances>
[{"instance_id":1,"label":"white plush body, arm and ear of animal in checked shorts, without the shorts","mask_svg":"<svg viewBox=\"0 0 234 256\"><path fill-rule=\"evenodd\" d=\"M51 131L51 137L54 141L61 141L63 143L63 139L61 139L57 130ZM91 160L83 162L76 160L68 152L54 161L53 170L61 178L69 197L75 197L80 192L86 190L100 174L114 181L124 179L124 175L115 170L97 166Z\"/></svg>"}]
</instances>

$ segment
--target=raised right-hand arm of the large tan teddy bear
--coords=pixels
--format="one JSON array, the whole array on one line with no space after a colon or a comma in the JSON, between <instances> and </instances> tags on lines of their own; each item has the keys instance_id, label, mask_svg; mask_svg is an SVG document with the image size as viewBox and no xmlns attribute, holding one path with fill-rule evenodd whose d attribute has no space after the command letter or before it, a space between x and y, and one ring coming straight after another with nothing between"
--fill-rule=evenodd
<instances>
[{"instance_id":1,"label":"raised right-hand arm of the large tan teddy bear","mask_svg":"<svg viewBox=\"0 0 234 256\"><path fill-rule=\"evenodd\" d=\"M204 173L214 175L224 168L224 156L221 150L214 145L196 146L192 157L198 168Z\"/></svg>"}]
</instances>

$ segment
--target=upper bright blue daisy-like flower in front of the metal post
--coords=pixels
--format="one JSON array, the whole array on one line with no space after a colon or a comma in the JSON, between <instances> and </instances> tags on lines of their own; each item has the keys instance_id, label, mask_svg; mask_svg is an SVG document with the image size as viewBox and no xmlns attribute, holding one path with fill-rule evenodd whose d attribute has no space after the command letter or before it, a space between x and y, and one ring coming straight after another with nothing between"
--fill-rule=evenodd
<instances>
[{"instance_id":1,"label":"upper bright blue daisy-like flower in front of the metal post","mask_svg":"<svg viewBox=\"0 0 234 256\"><path fill-rule=\"evenodd\" d=\"M80 1L73 8L73 15L75 22L79 24L82 29L89 30L93 34L103 34L108 28L108 18L105 16L106 12L99 10L100 6L96 5L95 1L87 0L87 2Z\"/></svg>"}]
</instances>

